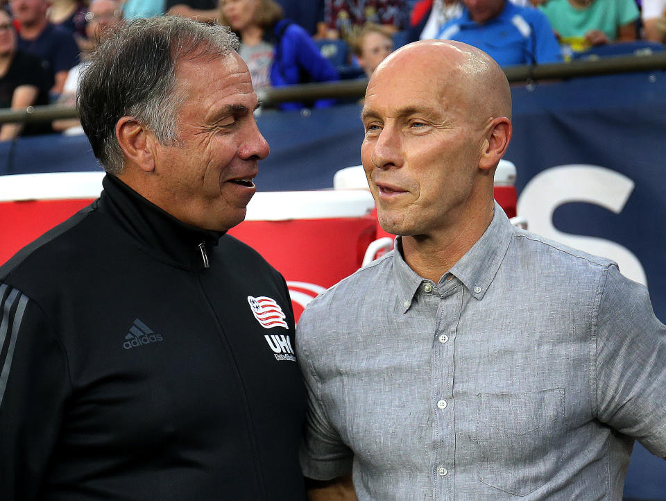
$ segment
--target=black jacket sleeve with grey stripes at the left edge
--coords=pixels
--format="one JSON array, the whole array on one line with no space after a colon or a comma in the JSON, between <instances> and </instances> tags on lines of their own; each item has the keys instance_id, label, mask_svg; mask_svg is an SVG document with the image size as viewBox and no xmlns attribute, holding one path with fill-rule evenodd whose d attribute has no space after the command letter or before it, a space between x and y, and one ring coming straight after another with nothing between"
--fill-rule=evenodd
<instances>
[{"instance_id":1,"label":"black jacket sleeve with grey stripes at the left edge","mask_svg":"<svg viewBox=\"0 0 666 501\"><path fill-rule=\"evenodd\" d=\"M0 500L40 496L70 393L67 357L40 307L0 284Z\"/></svg>"}]
</instances>

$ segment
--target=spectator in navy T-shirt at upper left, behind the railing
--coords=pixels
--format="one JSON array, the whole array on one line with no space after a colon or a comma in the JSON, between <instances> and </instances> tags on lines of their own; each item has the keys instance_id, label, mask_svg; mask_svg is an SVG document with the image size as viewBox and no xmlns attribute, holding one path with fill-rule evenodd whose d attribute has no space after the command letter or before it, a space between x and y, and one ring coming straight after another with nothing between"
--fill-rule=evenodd
<instances>
[{"instance_id":1,"label":"spectator in navy T-shirt at upper left, behind the railing","mask_svg":"<svg viewBox=\"0 0 666 501\"><path fill-rule=\"evenodd\" d=\"M78 63L74 35L49 23L46 0L11 0L10 6L19 23L18 48L42 60L52 78L51 92L60 94L67 72Z\"/></svg>"}]
</instances>

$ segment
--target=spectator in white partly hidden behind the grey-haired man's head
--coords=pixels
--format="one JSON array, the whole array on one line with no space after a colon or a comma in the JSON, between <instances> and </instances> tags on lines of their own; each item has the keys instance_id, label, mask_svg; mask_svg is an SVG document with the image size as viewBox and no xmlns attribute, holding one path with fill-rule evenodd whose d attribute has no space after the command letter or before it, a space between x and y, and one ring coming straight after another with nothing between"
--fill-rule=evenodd
<instances>
[{"instance_id":1,"label":"spectator in white partly hidden behind the grey-haired man's head","mask_svg":"<svg viewBox=\"0 0 666 501\"><path fill-rule=\"evenodd\" d=\"M90 9L86 15L87 23L85 25L85 33L87 40L92 43L91 49L95 49L108 31L117 26L123 19L120 3L117 0L93 0L90 4ZM58 104L61 105L76 105L76 92L78 90L78 78L81 71L88 65L85 60L78 63L75 67L69 70L65 86L62 89L62 94L58 97ZM80 128L80 121L78 119L63 119L53 122L53 130L66 132L68 134L80 133L83 134L83 129Z\"/></svg>"}]
</instances>

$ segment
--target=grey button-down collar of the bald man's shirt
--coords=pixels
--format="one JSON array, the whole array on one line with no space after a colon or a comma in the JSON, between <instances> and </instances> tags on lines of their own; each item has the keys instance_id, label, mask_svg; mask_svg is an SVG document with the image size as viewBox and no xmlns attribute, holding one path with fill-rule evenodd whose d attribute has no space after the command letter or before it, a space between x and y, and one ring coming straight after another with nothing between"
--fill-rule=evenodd
<instances>
[{"instance_id":1,"label":"grey button-down collar of the bald man's shirt","mask_svg":"<svg viewBox=\"0 0 666 501\"><path fill-rule=\"evenodd\" d=\"M506 217L504 210L495 202L493 221L481 238L454 264L449 272L470 291L470 294L481 300L493 282L499 265L504 260L506 250L513 237L513 226ZM402 257L402 239L395 239L393 250L393 273L398 288L398 309L407 312L416 295L418 287L425 278L413 271ZM440 280L440 286L443 280Z\"/></svg>"}]
</instances>

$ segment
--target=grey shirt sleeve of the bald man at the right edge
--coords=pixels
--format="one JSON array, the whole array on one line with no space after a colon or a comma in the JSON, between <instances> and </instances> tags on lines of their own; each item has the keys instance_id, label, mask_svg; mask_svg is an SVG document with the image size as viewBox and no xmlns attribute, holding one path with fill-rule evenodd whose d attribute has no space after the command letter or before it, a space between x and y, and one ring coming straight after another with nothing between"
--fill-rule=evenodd
<instances>
[{"instance_id":1,"label":"grey shirt sleeve of the bald man at the right edge","mask_svg":"<svg viewBox=\"0 0 666 501\"><path fill-rule=\"evenodd\" d=\"M599 420L666 457L666 326L616 265L601 281L596 345Z\"/></svg>"}]
</instances>

